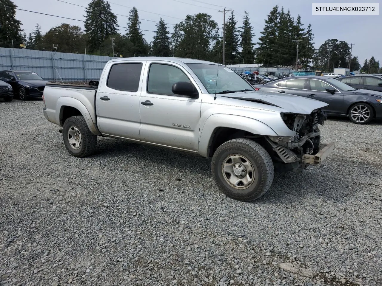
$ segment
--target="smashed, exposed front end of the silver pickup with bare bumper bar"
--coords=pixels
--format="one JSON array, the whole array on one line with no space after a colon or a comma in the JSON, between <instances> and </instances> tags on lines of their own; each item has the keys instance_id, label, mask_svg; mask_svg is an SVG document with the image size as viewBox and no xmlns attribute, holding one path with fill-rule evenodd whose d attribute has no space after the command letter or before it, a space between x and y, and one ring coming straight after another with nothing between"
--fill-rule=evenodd
<instances>
[{"instance_id":1,"label":"smashed, exposed front end of the silver pickup with bare bumper bar","mask_svg":"<svg viewBox=\"0 0 382 286\"><path fill-rule=\"evenodd\" d=\"M315 109L311 114L281 112L280 116L288 129L296 132L296 135L265 138L277 154L274 156L275 169L302 171L309 165L320 164L332 153L335 143L320 142L319 125L324 125L326 120L326 114L321 109Z\"/></svg>"}]
</instances>

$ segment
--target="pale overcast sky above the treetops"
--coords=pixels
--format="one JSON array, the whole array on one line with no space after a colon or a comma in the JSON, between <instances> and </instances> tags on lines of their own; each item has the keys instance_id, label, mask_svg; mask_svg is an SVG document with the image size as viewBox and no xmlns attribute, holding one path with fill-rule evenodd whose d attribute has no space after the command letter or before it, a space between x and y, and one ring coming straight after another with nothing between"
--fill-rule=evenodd
<instances>
[{"instance_id":1,"label":"pale overcast sky above the treetops","mask_svg":"<svg viewBox=\"0 0 382 286\"><path fill-rule=\"evenodd\" d=\"M75 3L81 6L87 6L90 2L88 0L63 1ZM63 3L59 0L13 0L13 2L20 9L84 20L84 8ZM162 17L165 22L169 24L168 27L170 32L173 31L174 25L172 24L180 22L187 14L196 14L200 12L210 14L212 18L219 23L221 29L223 24L223 13L219 13L219 10L222 10L226 5L225 7L227 9L234 10L236 20L238 20L238 26L241 26L244 10L249 13L250 21L255 33L255 42L257 42L258 37L261 35L260 32L264 28L264 20L267 18L267 14L269 14L273 6L279 5L280 7L283 6L285 10L289 9L295 19L297 15L300 14L304 27L308 26L309 23L312 24L315 48L319 48L319 46L327 39L338 39L346 41L349 45L350 43L354 44L352 55L358 56L361 66L363 65L364 60L370 59L371 56L374 56L374 58L379 61L382 60L382 37L380 33L382 16L312 16L312 3L319 2L378 3L379 1L111 0L110 5L113 13L126 16L128 16L130 8L124 6L135 6L138 9L139 18L141 19L141 29L144 30L155 31L156 23L152 21L159 21L160 17ZM56 18L20 10L16 10L16 18L22 22L22 28L25 30L26 34L29 34L37 23L41 26L43 33L47 32L51 27L60 25L63 22L71 25L78 25L82 28L84 27L84 23L80 21ZM125 16L118 16L118 24L126 27L127 19L128 18ZM124 28L120 29L120 32L125 33ZM151 42L154 32L143 31L143 33L146 40Z\"/></svg>"}]
</instances>

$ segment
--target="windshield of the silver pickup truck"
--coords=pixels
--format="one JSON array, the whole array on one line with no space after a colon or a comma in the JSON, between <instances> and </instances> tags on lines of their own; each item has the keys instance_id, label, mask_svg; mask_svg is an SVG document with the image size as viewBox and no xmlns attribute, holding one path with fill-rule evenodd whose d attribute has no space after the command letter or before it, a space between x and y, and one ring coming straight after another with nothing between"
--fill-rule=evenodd
<instances>
[{"instance_id":1,"label":"windshield of the silver pickup truck","mask_svg":"<svg viewBox=\"0 0 382 286\"><path fill-rule=\"evenodd\" d=\"M254 91L252 85L228 67L217 64L187 64L187 66L192 69L210 94Z\"/></svg>"}]
</instances>

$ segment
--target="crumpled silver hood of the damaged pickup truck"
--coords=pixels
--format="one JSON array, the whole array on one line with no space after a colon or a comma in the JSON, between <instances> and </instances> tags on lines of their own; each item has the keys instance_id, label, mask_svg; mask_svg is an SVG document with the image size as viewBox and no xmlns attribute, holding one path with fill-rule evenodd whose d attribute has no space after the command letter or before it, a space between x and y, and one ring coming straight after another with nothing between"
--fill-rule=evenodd
<instances>
[{"instance_id":1,"label":"crumpled silver hood of the damaged pickup truck","mask_svg":"<svg viewBox=\"0 0 382 286\"><path fill-rule=\"evenodd\" d=\"M220 96L238 100L248 100L264 103L285 109L285 112L300 114L311 114L314 109L329 105L325 102L312 98L306 98L303 96L291 95L287 93L283 93L281 95L276 92L236 92L221 94Z\"/></svg>"}]
</instances>

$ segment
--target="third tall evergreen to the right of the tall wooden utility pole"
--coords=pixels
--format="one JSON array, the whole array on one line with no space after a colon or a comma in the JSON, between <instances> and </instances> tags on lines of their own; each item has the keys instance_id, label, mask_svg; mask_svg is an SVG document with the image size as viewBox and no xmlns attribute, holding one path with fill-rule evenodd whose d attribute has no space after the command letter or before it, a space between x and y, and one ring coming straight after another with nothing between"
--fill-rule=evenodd
<instances>
[{"instance_id":1,"label":"third tall evergreen to the right of the tall wooden utility pole","mask_svg":"<svg viewBox=\"0 0 382 286\"><path fill-rule=\"evenodd\" d=\"M280 54L277 50L277 23L278 23L278 5L274 6L265 20L265 27L259 37L259 45L256 48L256 61L264 65L278 64L274 56Z\"/></svg>"}]
</instances>

